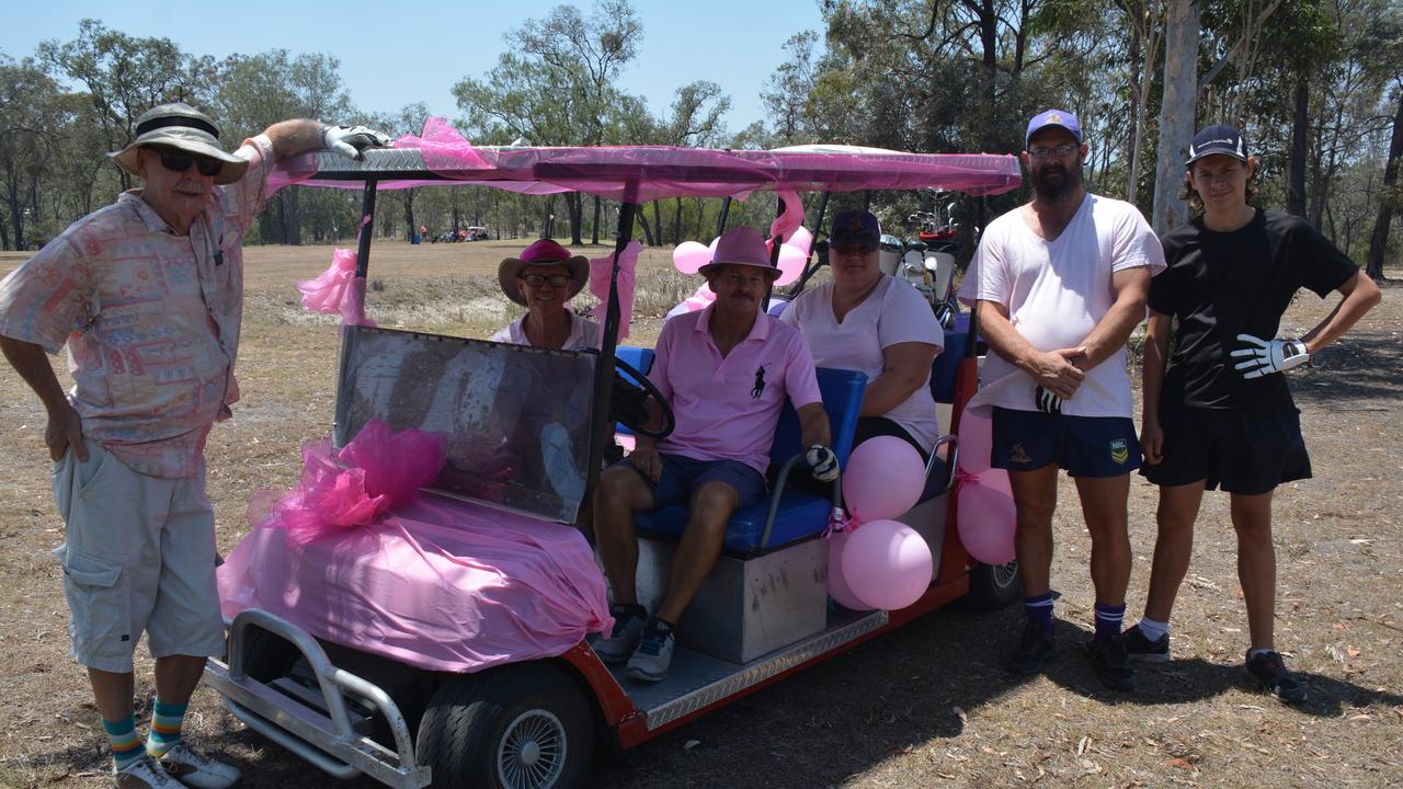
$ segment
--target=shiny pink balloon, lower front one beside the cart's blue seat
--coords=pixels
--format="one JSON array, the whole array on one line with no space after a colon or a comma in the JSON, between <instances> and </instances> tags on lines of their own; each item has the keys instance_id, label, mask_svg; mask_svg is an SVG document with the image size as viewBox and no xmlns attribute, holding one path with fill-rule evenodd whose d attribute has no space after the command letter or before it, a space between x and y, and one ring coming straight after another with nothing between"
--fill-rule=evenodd
<instances>
[{"instance_id":1,"label":"shiny pink balloon, lower front one beside the cart's blue seat","mask_svg":"<svg viewBox=\"0 0 1403 789\"><path fill-rule=\"evenodd\" d=\"M859 599L870 608L897 611L926 592L934 560L916 529L897 521L868 521L849 535L842 567Z\"/></svg>"}]
</instances>

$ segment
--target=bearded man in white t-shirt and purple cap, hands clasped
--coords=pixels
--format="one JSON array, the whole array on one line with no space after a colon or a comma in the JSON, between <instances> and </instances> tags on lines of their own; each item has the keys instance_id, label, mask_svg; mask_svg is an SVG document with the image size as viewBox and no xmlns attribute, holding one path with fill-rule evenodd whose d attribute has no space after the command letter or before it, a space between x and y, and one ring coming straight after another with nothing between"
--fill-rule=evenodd
<instances>
[{"instance_id":1,"label":"bearded man in white t-shirt and purple cap, hands clasped","mask_svg":"<svg viewBox=\"0 0 1403 789\"><path fill-rule=\"evenodd\" d=\"M1009 470L1017 505L1028 619L1009 670L1037 674L1056 654L1049 576L1061 468L1076 482L1092 535L1089 656L1106 685L1132 691L1121 619L1131 574L1127 498L1141 449L1125 340L1145 320L1149 279L1164 268L1164 253L1134 205L1087 194L1087 146L1075 115L1038 114L1024 142L1033 202L988 226L960 289L993 350L978 400L993 406L991 462Z\"/></svg>"}]
</instances>

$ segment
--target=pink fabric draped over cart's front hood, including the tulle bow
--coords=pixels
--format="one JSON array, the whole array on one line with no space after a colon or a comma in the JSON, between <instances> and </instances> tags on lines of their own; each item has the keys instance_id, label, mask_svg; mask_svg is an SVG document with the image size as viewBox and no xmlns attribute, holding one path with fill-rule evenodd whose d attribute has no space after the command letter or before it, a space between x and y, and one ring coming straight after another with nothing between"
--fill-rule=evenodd
<instances>
[{"instance_id":1,"label":"pink fabric draped over cart's front hood, including the tulle bow","mask_svg":"<svg viewBox=\"0 0 1403 789\"><path fill-rule=\"evenodd\" d=\"M442 465L436 439L372 423L340 452L310 442L299 486L219 569L223 614L261 608L333 643L457 672L557 656L610 628L577 529L415 496Z\"/></svg>"}]
</instances>

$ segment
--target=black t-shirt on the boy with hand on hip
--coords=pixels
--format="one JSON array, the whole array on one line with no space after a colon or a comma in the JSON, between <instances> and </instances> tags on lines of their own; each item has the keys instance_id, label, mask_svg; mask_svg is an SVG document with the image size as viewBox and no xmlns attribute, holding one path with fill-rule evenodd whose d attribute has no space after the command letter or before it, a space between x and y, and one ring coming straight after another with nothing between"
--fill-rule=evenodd
<instances>
[{"instance_id":1,"label":"black t-shirt on the boy with hand on hip","mask_svg":"<svg viewBox=\"0 0 1403 789\"><path fill-rule=\"evenodd\" d=\"M1258 209L1230 233L1201 216L1162 239L1169 265L1150 279L1149 307L1179 319L1162 403L1200 409L1294 409L1287 376L1247 380L1229 354L1239 334L1277 337L1301 288L1324 298L1360 270L1305 219Z\"/></svg>"}]
</instances>

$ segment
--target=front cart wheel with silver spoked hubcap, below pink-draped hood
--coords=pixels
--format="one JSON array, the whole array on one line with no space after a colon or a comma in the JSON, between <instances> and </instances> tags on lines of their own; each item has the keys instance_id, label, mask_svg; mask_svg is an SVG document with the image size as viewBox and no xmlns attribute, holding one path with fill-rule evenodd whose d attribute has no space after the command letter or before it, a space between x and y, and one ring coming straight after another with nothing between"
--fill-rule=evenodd
<instances>
[{"instance_id":1,"label":"front cart wheel with silver spoked hubcap, below pink-draped hood","mask_svg":"<svg viewBox=\"0 0 1403 789\"><path fill-rule=\"evenodd\" d=\"M593 736L589 703L570 677L526 663L441 685L415 752L435 789L565 789L584 782Z\"/></svg>"}]
</instances>

